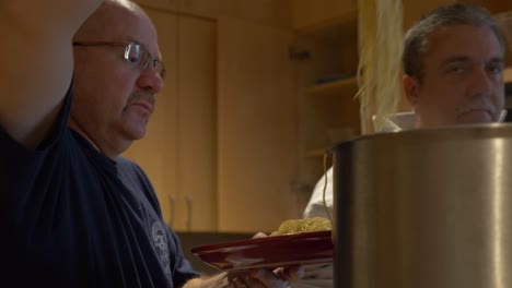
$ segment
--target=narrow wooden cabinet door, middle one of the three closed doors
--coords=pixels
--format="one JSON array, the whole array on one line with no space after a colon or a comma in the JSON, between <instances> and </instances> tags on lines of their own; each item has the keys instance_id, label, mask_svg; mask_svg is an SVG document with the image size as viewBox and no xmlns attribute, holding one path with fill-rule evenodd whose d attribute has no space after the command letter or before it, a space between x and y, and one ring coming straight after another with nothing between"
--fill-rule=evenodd
<instances>
[{"instance_id":1,"label":"narrow wooden cabinet door, middle one of the three closed doors","mask_svg":"<svg viewBox=\"0 0 512 288\"><path fill-rule=\"evenodd\" d=\"M175 226L179 230L217 230L216 31L213 21L178 17Z\"/></svg>"}]
</instances>

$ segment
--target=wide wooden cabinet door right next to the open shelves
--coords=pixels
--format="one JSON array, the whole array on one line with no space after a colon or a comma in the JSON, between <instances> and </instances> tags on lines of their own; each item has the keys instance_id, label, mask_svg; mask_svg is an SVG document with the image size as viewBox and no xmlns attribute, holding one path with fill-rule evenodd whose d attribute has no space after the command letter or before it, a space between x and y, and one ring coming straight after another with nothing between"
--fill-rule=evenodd
<instances>
[{"instance_id":1,"label":"wide wooden cabinet door right next to the open shelves","mask_svg":"<svg viewBox=\"0 0 512 288\"><path fill-rule=\"evenodd\" d=\"M220 231L272 231L298 217L290 31L219 20Z\"/></svg>"}]
</instances>

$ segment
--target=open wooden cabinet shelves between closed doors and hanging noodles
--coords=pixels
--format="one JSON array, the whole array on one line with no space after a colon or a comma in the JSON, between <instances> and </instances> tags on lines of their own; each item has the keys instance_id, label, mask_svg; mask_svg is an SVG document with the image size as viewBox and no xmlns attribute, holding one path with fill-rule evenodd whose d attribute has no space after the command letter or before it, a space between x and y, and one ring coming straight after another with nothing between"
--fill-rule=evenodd
<instances>
[{"instance_id":1,"label":"open wooden cabinet shelves between closed doors and hanging noodles","mask_svg":"<svg viewBox=\"0 0 512 288\"><path fill-rule=\"evenodd\" d=\"M299 176L304 205L321 178L324 152L360 132L356 71L357 2L293 1L299 99Z\"/></svg>"}]
</instances>

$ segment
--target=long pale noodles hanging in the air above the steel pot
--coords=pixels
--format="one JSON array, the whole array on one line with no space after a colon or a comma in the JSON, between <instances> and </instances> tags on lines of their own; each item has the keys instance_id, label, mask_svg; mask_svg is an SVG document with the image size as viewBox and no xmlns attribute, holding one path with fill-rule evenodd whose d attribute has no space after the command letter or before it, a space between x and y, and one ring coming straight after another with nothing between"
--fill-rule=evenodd
<instances>
[{"instance_id":1,"label":"long pale noodles hanging in the air above the steel pot","mask_svg":"<svg viewBox=\"0 0 512 288\"><path fill-rule=\"evenodd\" d=\"M358 1L359 65L356 97L360 100L361 133L379 131L383 117L398 109L403 52L400 0ZM372 116L375 127L372 131Z\"/></svg>"}]
</instances>

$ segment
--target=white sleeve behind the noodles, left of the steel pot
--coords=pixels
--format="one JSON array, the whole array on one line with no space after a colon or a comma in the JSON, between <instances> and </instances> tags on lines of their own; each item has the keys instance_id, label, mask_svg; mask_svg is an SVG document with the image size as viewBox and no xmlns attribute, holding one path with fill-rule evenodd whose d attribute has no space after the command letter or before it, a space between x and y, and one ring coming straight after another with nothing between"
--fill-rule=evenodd
<instances>
[{"instance_id":1,"label":"white sleeve behind the noodles, left of the steel pot","mask_svg":"<svg viewBox=\"0 0 512 288\"><path fill-rule=\"evenodd\" d=\"M325 187L325 177L327 176L327 189L325 191L325 202L329 214L333 215L333 167L327 170L327 173L324 175L321 180L315 185L313 194L311 195L310 202L304 211L304 218L312 217L324 217L329 218L324 208L324 187Z\"/></svg>"}]
</instances>

